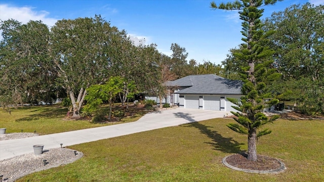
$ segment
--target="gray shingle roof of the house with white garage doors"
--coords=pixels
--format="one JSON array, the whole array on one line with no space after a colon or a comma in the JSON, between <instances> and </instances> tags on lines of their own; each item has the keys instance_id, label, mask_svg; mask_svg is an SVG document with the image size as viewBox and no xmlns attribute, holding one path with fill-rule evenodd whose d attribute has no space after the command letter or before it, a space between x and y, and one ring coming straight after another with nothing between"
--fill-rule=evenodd
<instances>
[{"instance_id":1,"label":"gray shingle roof of the house with white garage doors","mask_svg":"<svg viewBox=\"0 0 324 182\"><path fill-rule=\"evenodd\" d=\"M242 82L228 80L215 74L190 75L167 83L169 86L189 86L179 94L241 94Z\"/></svg>"}]
</instances>

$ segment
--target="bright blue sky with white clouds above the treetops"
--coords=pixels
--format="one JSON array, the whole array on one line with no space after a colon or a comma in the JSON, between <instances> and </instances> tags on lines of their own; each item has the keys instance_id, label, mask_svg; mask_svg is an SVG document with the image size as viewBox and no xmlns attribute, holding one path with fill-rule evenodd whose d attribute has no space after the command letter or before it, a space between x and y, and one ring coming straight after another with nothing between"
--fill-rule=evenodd
<instances>
[{"instance_id":1,"label":"bright blue sky with white clouds above the treetops","mask_svg":"<svg viewBox=\"0 0 324 182\"><path fill-rule=\"evenodd\" d=\"M231 2L229 0L215 1ZM324 0L285 0L264 7L262 18L283 11L293 4L324 5ZM57 20L101 15L111 25L125 29L131 38L145 38L157 49L171 55L171 43L178 43L188 53L187 60L221 64L229 49L241 43L241 22L236 11L211 10L209 0L80 0L80 1L0 1L0 19L27 23L42 20L49 27Z\"/></svg>"}]
</instances>

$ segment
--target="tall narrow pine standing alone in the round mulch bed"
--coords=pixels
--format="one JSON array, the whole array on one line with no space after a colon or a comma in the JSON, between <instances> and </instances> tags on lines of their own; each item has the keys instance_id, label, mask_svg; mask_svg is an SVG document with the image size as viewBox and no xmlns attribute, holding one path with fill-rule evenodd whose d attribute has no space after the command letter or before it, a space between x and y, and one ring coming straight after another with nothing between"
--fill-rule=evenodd
<instances>
[{"instance_id":1,"label":"tall narrow pine standing alone in the round mulch bed","mask_svg":"<svg viewBox=\"0 0 324 182\"><path fill-rule=\"evenodd\" d=\"M227 126L242 134L248 135L248 160L257 161L256 142L260 136L271 133L269 129L257 130L278 118L277 115L268 118L262 112L265 107L277 104L277 99L265 102L271 98L271 93L267 93L267 84L278 79L280 74L275 69L269 69L272 64L271 56L274 51L268 47L263 47L261 42L273 34L273 31L264 32L260 17L262 16L262 6L273 5L277 0L241 0L233 3L221 3L219 6L215 2L211 3L213 9L240 10L239 16L242 22L242 49L233 53L241 61L247 62L248 66L241 67L241 79L244 85L241 93L244 95L240 101L228 99L237 105L233 107L239 112L232 112L237 118L237 123L230 123Z\"/></svg>"}]
</instances>

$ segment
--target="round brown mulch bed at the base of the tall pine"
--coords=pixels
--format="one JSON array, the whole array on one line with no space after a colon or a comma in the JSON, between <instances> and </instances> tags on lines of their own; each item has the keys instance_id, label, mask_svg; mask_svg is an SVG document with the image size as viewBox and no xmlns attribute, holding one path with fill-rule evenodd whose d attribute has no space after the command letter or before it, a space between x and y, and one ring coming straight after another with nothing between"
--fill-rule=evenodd
<instances>
[{"instance_id":1,"label":"round brown mulch bed at the base of the tall pine","mask_svg":"<svg viewBox=\"0 0 324 182\"><path fill-rule=\"evenodd\" d=\"M234 154L226 158L226 162L234 167L249 170L272 170L281 166L277 159L263 155L257 155L257 161L247 159L247 154Z\"/></svg>"}]
</instances>

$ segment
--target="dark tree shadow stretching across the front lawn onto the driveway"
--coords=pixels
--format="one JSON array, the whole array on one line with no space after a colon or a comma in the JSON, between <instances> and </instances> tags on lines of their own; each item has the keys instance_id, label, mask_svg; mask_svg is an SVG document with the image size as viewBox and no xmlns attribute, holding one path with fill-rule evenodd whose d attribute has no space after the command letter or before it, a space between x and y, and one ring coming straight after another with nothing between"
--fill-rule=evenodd
<instances>
[{"instance_id":1,"label":"dark tree shadow stretching across the front lawn onto the driveway","mask_svg":"<svg viewBox=\"0 0 324 182\"><path fill-rule=\"evenodd\" d=\"M214 147L215 150L222 151L225 153L244 153L246 151L241 151L240 146L244 145L243 143L238 143L237 141L233 140L233 138L225 138L221 134L219 134L217 131L212 130L211 126L206 126L204 124L201 124L199 122L196 122L196 120L193 119L193 117L190 116L190 113L174 113L176 117L184 118L190 123L185 124L183 126L185 127L195 127L199 129L200 133L203 133L208 136L208 138L211 139L211 142L205 142L206 144L210 144Z\"/></svg>"}]
</instances>

